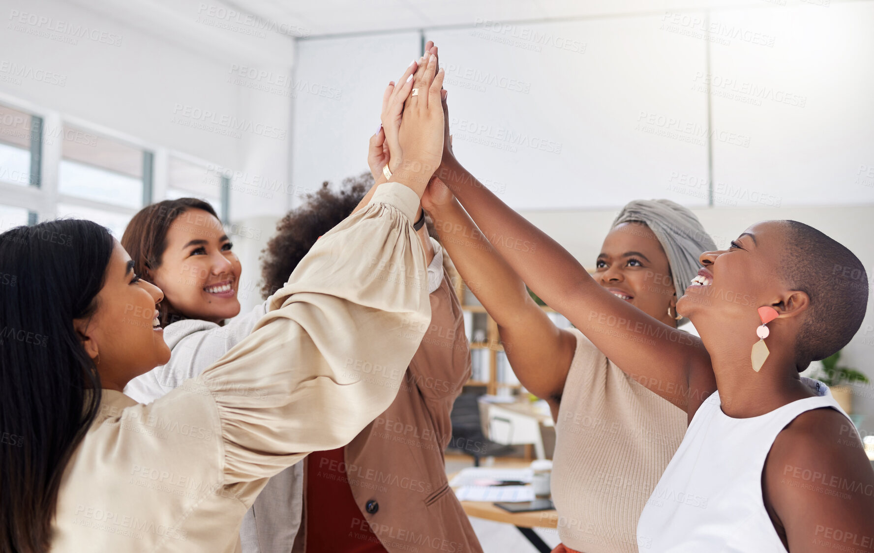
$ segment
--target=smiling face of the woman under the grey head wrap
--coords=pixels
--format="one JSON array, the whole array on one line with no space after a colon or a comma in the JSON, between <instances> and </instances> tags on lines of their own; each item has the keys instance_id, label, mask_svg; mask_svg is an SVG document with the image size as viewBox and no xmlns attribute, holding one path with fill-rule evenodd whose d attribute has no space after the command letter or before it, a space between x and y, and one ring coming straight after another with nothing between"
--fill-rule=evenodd
<instances>
[{"instance_id":1,"label":"smiling face of the woman under the grey head wrap","mask_svg":"<svg viewBox=\"0 0 874 553\"><path fill-rule=\"evenodd\" d=\"M642 223L616 225L604 238L593 278L647 315L676 326L668 308L676 304L668 256ZM671 309L673 313L673 309Z\"/></svg>"}]
</instances>

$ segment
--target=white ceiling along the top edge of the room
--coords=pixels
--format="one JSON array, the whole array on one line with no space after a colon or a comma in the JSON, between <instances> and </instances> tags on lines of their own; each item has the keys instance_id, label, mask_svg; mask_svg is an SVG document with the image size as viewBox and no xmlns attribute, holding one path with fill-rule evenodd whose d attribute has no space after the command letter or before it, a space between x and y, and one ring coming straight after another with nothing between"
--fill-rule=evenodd
<instances>
[{"instance_id":1,"label":"white ceiling along the top edge of the room","mask_svg":"<svg viewBox=\"0 0 874 553\"><path fill-rule=\"evenodd\" d=\"M670 11L780 9L813 0L70 0L215 59L289 66L295 38ZM815 0L830 3L857 0ZM490 27L489 27L490 28Z\"/></svg>"}]
</instances>

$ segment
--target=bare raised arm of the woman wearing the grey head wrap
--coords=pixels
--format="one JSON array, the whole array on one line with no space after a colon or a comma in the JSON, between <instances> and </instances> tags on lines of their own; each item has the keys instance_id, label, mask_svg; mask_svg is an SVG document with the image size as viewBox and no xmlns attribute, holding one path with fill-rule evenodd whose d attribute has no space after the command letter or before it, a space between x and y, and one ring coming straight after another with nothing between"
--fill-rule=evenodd
<instances>
[{"instance_id":1,"label":"bare raised arm of the woman wearing the grey head wrap","mask_svg":"<svg viewBox=\"0 0 874 553\"><path fill-rule=\"evenodd\" d=\"M554 414L576 349L575 337L556 328L531 300L522 279L440 181L429 185L422 202L461 278L495 319L519 382L543 397Z\"/></svg>"}]
</instances>

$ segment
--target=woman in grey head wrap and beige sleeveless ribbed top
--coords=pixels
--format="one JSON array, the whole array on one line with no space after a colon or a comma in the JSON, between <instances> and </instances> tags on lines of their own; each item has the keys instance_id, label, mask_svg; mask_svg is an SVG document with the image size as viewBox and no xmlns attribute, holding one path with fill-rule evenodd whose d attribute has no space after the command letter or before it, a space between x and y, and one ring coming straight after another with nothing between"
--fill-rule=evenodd
<instances>
[{"instance_id":1,"label":"woman in grey head wrap and beige sleeveless ribbed top","mask_svg":"<svg viewBox=\"0 0 874 553\"><path fill-rule=\"evenodd\" d=\"M461 278L497 322L519 382L550 404L557 433L551 480L562 540L557 551L644 550L646 544L636 539L637 520L683 440L686 414L627 377L576 328L556 328L489 240L515 239L523 251L531 242L484 238L437 179L422 205ZM593 277L676 327L686 322L676 316L676 301L697 273L697 256L714 247L688 209L669 200L637 200L615 219ZM608 324L626 322L613 317ZM653 338L646 329L638 337Z\"/></svg>"}]
</instances>

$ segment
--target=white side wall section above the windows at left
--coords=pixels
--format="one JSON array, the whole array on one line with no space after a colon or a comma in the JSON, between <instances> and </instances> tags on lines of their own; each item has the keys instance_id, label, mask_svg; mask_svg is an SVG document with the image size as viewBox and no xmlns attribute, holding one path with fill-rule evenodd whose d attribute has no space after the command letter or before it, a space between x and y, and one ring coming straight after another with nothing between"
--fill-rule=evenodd
<instances>
[{"instance_id":1,"label":"white side wall section above the windows at left","mask_svg":"<svg viewBox=\"0 0 874 553\"><path fill-rule=\"evenodd\" d=\"M290 76L291 38L252 38L199 23L204 17L212 23L221 20L198 15L198 3L190 0L175 3L177 11L149 0L82 4L94 9L60 0L3 4L0 61L8 62L0 66L4 99L30 102L151 149L182 152L245 173L250 180L258 176L288 183L290 98L252 87L264 79L235 83L231 69L258 66ZM98 39L59 31L71 28L87 29ZM280 60L287 65L271 66ZM25 76L17 78L22 70ZM59 75L57 84L26 76L44 72ZM226 134L222 117L244 126L239 137ZM275 137L280 132L283 139ZM257 186L236 187L232 218L280 214L291 202L285 192L269 198L260 192Z\"/></svg>"}]
</instances>

